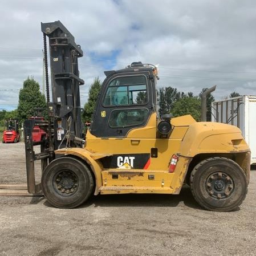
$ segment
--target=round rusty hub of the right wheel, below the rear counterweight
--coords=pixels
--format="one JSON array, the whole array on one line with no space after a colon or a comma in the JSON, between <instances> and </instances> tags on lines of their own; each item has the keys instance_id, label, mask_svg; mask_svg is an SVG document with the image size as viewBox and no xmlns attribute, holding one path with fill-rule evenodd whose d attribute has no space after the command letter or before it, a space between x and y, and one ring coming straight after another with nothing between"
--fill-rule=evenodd
<instances>
[{"instance_id":1,"label":"round rusty hub of the right wheel, below the rear counterweight","mask_svg":"<svg viewBox=\"0 0 256 256\"><path fill-rule=\"evenodd\" d=\"M206 191L214 199L230 197L234 190L234 181L224 172L216 172L206 179Z\"/></svg>"}]
</instances>

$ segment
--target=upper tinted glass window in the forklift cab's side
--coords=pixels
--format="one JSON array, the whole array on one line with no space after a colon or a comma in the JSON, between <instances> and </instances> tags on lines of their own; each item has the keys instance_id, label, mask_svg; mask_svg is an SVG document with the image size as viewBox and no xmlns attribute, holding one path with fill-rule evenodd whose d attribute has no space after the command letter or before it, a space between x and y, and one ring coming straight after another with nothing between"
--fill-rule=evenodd
<instances>
[{"instance_id":1,"label":"upper tinted glass window in the forklift cab's side","mask_svg":"<svg viewBox=\"0 0 256 256\"><path fill-rule=\"evenodd\" d=\"M143 75L113 79L103 101L104 106L147 104L147 79Z\"/></svg>"}]
</instances>

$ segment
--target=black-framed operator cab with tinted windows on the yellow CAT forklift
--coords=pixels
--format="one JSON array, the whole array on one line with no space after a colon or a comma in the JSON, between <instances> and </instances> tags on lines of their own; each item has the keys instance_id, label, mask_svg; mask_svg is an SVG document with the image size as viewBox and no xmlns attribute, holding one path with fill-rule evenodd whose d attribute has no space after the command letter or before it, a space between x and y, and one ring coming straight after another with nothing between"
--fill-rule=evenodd
<instances>
[{"instance_id":1,"label":"black-framed operator cab with tinted windows on the yellow CAT forklift","mask_svg":"<svg viewBox=\"0 0 256 256\"><path fill-rule=\"evenodd\" d=\"M156 72L151 64L132 63L106 71L90 132L96 137L125 137L144 127L156 111ZM101 127L101 129L99 129Z\"/></svg>"}]
</instances>

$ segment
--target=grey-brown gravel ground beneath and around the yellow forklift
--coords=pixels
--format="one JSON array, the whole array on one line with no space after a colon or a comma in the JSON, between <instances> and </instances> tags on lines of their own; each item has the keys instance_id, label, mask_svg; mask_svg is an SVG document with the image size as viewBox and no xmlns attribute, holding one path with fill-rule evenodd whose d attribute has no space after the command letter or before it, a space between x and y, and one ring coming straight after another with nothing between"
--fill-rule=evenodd
<instances>
[{"instance_id":1,"label":"grey-brown gravel ground beneath and around the yellow forklift","mask_svg":"<svg viewBox=\"0 0 256 256\"><path fill-rule=\"evenodd\" d=\"M0 153L0 184L26 182L24 143L0 143ZM230 213L201 209L188 186L96 196L77 209L2 196L0 255L256 255L255 184L252 170L246 200Z\"/></svg>"}]
</instances>

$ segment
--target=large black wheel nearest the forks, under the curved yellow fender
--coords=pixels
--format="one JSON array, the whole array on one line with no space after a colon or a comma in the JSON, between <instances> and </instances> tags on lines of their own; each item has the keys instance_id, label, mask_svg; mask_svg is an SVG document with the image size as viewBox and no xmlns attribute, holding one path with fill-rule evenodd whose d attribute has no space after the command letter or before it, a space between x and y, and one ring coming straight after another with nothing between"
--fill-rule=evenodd
<instances>
[{"instance_id":1,"label":"large black wheel nearest the forks, under the curved yellow fender","mask_svg":"<svg viewBox=\"0 0 256 256\"><path fill-rule=\"evenodd\" d=\"M50 162L42 173L42 190L51 205L75 208L92 194L94 179L83 162L61 157Z\"/></svg>"}]
</instances>

